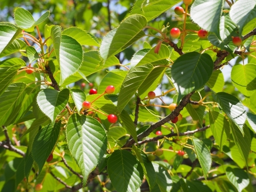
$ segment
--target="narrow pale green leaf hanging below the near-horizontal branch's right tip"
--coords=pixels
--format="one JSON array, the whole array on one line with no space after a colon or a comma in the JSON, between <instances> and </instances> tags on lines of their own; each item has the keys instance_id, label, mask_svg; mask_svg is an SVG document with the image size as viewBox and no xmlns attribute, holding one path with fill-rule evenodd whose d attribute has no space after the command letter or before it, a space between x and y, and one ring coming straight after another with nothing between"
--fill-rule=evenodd
<instances>
[{"instance_id":1,"label":"narrow pale green leaf hanging below the near-horizontal branch's right tip","mask_svg":"<svg viewBox=\"0 0 256 192\"><path fill-rule=\"evenodd\" d=\"M197 158L201 165L204 178L207 180L207 174L212 166L212 156L206 144L200 141L198 138L193 138L193 145L196 151Z\"/></svg>"}]
</instances>

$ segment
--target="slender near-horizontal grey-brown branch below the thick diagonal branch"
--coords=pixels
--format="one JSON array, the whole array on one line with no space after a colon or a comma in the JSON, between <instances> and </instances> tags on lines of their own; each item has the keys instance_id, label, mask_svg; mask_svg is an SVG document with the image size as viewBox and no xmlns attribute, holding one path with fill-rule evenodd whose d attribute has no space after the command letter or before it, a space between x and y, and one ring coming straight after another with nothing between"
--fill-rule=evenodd
<instances>
[{"instance_id":1,"label":"slender near-horizontal grey-brown branch below the thick diagonal branch","mask_svg":"<svg viewBox=\"0 0 256 192\"><path fill-rule=\"evenodd\" d=\"M196 132L201 132L201 131L204 131L204 130L208 129L209 127L210 127L210 125L202 127L200 129L193 130L193 131L182 132L182 133L179 133L179 136L185 136L185 135L194 134ZM177 133L170 133L168 135L160 135L160 136L157 136L157 137L152 137L152 138L149 138L149 139L145 139L143 141L139 141L138 144L142 145L144 143L148 143L148 142L152 142L152 141L157 141L157 140L165 138L165 137L169 138L169 137L174 137L174 136L178 136L178 134Z\"/></svg>"}]
</instances>

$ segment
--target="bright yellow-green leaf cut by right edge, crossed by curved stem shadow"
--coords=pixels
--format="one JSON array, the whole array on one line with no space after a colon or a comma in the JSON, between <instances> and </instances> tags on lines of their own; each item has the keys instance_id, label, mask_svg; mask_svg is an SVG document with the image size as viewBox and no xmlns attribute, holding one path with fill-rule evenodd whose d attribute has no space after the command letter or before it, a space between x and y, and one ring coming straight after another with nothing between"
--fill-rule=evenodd
<instances>
[{"instance_id":1,"label":"bright yellow-green leaf cut by right edge, crossed by curved stem shadow","mask_svg":"<svg viewBox=\"0 0 256 192\"><path fill-rule=\"evenodd\" d=\"M250 97L256 89L255 71L255 64L235 64L232 67L232 83L246 97Z\"/></svg>"}]
</instances>

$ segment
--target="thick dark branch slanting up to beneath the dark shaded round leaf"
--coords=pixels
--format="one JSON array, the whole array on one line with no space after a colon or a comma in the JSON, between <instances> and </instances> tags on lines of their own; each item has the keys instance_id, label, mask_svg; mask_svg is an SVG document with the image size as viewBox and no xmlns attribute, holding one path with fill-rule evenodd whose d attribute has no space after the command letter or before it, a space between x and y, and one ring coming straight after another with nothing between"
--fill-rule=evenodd
<instances>
[{"instance_id":1,"label":"thick dark branch slanting up to beneath the dark shaded round leaf","mask_svg":"<svg viewBox=\"0 0 256 192\"><path fill-rule=\"evenodd\" d=\"M186 96L184 96L184 98L182 98L180 104L171 112L171 114L169 114L165 118L161 119L160 121L151 124L147 130L145 130L144 132L139 134L138 140L141 140L142 138L148 136L156 128L162 126L163 124L167 123L168 121L173 120L174 117L178 116L180 114L180 111L186 106L186 104L190 100L190 97L192 96L193 93L194 92L191 92L191 93L187 94ZM130 139L126 142L126 144L124 144L123 147L129 147L134 143L135 143L134 139Z\"/></svg>"}]
</instances>

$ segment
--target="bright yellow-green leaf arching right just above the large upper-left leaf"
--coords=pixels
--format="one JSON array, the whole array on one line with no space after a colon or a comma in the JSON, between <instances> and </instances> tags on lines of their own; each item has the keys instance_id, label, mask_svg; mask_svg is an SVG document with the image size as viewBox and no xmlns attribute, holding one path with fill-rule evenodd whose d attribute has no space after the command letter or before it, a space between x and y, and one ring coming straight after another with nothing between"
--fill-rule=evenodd
<instances>
[{"instance_id":1,"label":"bright yellow-green leaf arching right just above the large upper-left leaf","mask_svg":"<svg viewBox=\"0 0 256 192\"><path fill-rule=\"evenodd\" d=\"M74 38L81 45L99 46L96 37L79 27L67 28L62 32L62 34Z\"/></svg>"}]
</instances>

